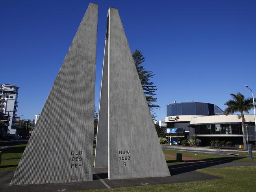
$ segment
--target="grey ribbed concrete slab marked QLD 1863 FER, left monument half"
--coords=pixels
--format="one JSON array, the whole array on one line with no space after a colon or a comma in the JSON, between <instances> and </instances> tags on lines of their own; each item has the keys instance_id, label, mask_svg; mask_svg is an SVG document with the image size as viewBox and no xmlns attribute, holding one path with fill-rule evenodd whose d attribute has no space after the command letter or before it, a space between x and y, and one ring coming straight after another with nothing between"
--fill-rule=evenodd
<instances>
[{"instance_id":1,"label":"grey ribbed concrete slab marked QLD 1863 FER, left monument half","mask_svg":"<svg viewBox=\"0 0 256 192\"><path fill-rule=\"evenodd\" d=\"M97 22L89 4L10 185L92 180Z\"/></svg>"}]
</instances>

